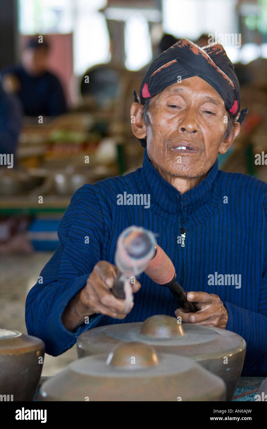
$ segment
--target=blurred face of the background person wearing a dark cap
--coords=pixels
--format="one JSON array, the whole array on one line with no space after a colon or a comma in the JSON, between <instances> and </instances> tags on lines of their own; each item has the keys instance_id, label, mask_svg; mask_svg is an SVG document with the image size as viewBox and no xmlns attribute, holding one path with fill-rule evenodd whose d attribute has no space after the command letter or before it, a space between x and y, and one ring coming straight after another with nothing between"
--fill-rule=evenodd
<instances>
[{"instance_id":1,"label":"blurred face of the background person wearing a dark cap","mask_svg":"<svg viewBox=\"0 0 267 429\"><path fill-rule=\"evenodd\" d=\"M48 63L47 48L27 48L23 51L22 63L30 75L38 76L44 73Z\"/></svg>"}]
</instances>

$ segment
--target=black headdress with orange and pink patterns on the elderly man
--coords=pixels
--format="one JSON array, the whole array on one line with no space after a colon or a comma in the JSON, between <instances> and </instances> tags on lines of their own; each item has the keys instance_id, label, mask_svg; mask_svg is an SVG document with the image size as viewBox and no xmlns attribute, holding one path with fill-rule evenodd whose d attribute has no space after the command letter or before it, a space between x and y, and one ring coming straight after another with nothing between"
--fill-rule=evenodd
<instances>
[{"instance_id":1,"label":"black headdress with orange and pink patterns on the elderly man","mask_svg":"<svg viewBox=\"0 0 267 429\"><path fill-rule=\"evenodd\" d=\"M150 64L141 83L139 96L134 91L135 101L144 104L148 97L176 83L178 76L181 80L199 76L208 82L224 100L225 108L241 124L248 109L240 112L239 82L222 45L214 42L201 48L189 39L180 39ZM140 139L140 142L146 146L145 139Z\"/></svg>"}]
</instances>

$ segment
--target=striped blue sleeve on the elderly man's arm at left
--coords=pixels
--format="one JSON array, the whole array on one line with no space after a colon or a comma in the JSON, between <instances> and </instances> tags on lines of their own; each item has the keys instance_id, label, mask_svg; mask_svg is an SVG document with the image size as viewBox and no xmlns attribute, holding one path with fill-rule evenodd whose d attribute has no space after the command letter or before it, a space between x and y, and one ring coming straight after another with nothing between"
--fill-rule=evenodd
<instances>
[{"instance_id":1,"label":"striped blue sleeve on the elderly man's arm at left","mask_svg":"<svg viewBox=\"0 0 267 429\"><path fill-rule=\"evenodd\" d=\"M27 331L41 338L46 353L52 356L72 347L81 332L96 326L103 317L93 315L75 332L61 322L70 299L85 286L95 264L104 259L109 223L108 208L93 185L76 191L58 227L60 245L27 295Z\"/></svg>"}]
</instances>

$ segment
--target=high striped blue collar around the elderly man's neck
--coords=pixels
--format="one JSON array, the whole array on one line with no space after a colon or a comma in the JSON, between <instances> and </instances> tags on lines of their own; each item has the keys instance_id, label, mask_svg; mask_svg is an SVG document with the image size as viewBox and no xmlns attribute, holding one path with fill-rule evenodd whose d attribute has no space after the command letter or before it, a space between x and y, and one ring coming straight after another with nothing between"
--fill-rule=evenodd
<instances>
[{"instance_id":1,"label":"high striped blue collar around the elderly man's neck","mask_svg":"<svg viewBox=\"0 0 267 429\"><path fill-rule=\"evenodd\" d=\"M150 193L150 200L153 205L160 206L169 214L180 214L186 218L197 209L201 209L201 213L204 215L204 207L210 206L211 208L211 200L217 197L217 173L218 160L197 186L181 194L159 174L148 157L147 148L144 150L144 161L141 169L143 189L146 193ZM210 212L210 209L207 211Z\"/></svg>"}]
</instances>

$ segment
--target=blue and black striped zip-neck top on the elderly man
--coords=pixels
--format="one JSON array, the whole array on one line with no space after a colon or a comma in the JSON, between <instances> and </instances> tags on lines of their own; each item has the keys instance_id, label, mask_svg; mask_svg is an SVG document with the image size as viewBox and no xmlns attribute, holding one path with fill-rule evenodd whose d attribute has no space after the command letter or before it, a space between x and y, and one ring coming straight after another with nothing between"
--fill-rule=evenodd
<instances>
[{"instance_id":1,"label":"blue and black striped zip-neck top on the elderly man","mask_svg":"<svg viewBox=\"0 0 267 429\"><path fill-rule=\"evenodd\" d=\"M118 205L117 195L150 194L150 208ZM26 325L54 356L72 347L78 335L95 326L143 321L153 314L175 316L177 303L168 288L144 273L132 311L123 320L102 314L69 332L61 315L86 284L99 260L114 264L119 234L137 225L157 234L157 242L174 263L186 291L216 293L228 311L226 329L247 343L243 375L267 375L267 184L248 175L218 170L183 195L165 181L150 162L125 176L81 187L72 196L58 228L60 246L45 265L43 283L30 290ZM228 198L228 202L227 199ZM186 231L182 247L180 230ZM85 237L89 236L89 244ZM211 285L215 273L241 275L241 287ZM216 281L215 281L216 283ZM218 282L220 283L220 282Z\"/></svg>"}]
</instances>

